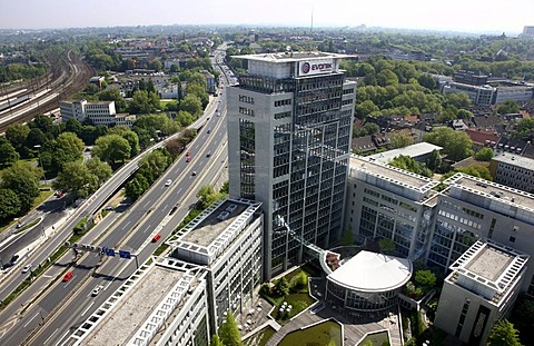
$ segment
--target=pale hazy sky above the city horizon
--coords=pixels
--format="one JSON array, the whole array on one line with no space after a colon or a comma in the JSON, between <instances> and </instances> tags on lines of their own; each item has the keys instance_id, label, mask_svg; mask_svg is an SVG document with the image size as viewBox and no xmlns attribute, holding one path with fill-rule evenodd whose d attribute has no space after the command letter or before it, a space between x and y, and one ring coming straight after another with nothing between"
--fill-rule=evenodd
<instances>
[{"instance_id":1,"label":"pale hazy sky above the city horizon","mask_svg":"<svg viewBox=\"0 0 534 346\"><path fill-rule=\"evenodd\" d=\"M150 24L367 27L520 33L534 0L0 0L0 29Z\"/></svg>"}]
</instances>

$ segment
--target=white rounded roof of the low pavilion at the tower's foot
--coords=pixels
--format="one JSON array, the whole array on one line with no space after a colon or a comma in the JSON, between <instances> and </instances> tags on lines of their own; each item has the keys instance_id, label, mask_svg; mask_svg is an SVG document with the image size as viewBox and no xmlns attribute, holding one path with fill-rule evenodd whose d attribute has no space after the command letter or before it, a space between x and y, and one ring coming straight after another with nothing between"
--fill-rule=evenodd
<instances>
[{"instance_id":1,"label":"white rounded roof of the low pavilion at the tower's foot","mask_svg":"<svg viewBox=\"0 0 534 346\"><path fill-rule=\"evenodd\" d=\"M358 291L380 293L406 284L412 270L409 259L363 250L328 275L328 280Z\"/></svg>"}]
</instances>

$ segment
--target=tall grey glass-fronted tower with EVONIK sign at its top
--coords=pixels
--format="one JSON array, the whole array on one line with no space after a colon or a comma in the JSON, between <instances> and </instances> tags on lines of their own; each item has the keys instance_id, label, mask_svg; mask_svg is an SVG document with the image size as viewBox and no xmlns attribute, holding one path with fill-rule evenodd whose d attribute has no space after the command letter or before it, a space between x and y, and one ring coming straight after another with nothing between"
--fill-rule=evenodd
<instances>
[{"instance_id":1,"label":"tall grey glass-fronted tower with EVONIK sign at its top","mask_svg":"<svg viewBox=\"0 0 534 346\"><path fill-rule=\"evenodd\" d=\"M238 56L227 89L230 195L261 202L265 279L298 264L304 243L343 231L356 83L326 52Z\"/></svg>"}]
</instances>

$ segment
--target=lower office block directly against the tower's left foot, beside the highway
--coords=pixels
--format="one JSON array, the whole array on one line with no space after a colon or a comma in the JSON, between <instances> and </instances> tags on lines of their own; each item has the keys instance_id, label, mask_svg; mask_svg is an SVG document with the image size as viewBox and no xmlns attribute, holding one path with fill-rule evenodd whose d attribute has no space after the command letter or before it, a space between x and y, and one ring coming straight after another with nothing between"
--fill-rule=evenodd
<instances>
[{"instance_id":1,"label":"lower office block directly against the tower's left foot, beside the highway","mask_svg":"<svg viewBox=\"0 0 534 346\"><path fill-rule=\"evenodd\" d=\"M261 283L259 207L244 199L216 202L168 241L171 257L206 267L212 330L220 327L227 312L246 314Z\"/></svg>"}]
</instances>

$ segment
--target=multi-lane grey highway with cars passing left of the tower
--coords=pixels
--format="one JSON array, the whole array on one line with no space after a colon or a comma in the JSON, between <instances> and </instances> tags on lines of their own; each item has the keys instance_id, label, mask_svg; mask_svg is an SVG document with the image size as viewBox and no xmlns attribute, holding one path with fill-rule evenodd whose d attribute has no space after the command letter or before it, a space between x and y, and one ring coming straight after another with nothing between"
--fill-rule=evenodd
<instances>
[{"instance_id":1,"label":"multi-lane grey highway with cars passing left of the tower","mask_svg":"<svg viewBox=\"0 0 534 346\"><path fill-rule=\"evenodd\" d=\"M211 182L220 168L226 165L225 113L217 117L215 115L217 107L219 103L216 101L211 108L208 108L207 113L210 115L210 120L187 149L191 152L191 161L186 162L186 157L180 157L152 188L125 212L113 229L97 243L99 246L138 253L138 263L141 264L176 228L187 215L189 207L197 200L198 189ZM208 152L211 154L209 158ZM192 175L194 171L197 172L196 176ZM170 187L165 187L167 179L172 180ZM175 206L176 211L169 216ZM162 220L166 223L165 227L161 227ZM161 234L161 240L154 244L150 240L156 233ZM125 236L128 237L127 240L121 240ZM0 339L0 343L20 344L42 322L44 326L31 339L32 345L56 345L63 342L136 269L134 259L126 260L117 257L105 257L103 264L96 269L100 257L95 254L83 257L71 269L75 275L72 279L68 283L57 283L24 314L17 324L17 328L11 328ZM105 286L105 290L97 297L91 297L92 289L98 285ZM61 306L61 312L46 320L58 306Z\"/></svg>"}]
</instances>

